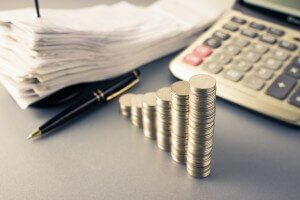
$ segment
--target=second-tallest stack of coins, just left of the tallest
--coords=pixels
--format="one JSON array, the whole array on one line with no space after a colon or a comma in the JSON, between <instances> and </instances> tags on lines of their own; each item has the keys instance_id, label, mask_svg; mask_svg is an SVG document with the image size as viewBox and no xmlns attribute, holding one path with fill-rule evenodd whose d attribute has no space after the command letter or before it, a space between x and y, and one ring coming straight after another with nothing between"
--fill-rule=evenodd
<instances>
[{"instance_id":1,"label":"second-tallest stack of coins, just left of the tallest","mask_svg":"<svg viewBox=\"0 0 300 200\"><path fill-rule=\"evenodd\" d=\"M171 91L171 156L174 161L184 164L188 139L189 83L178 81L171 86Z\"/></svg>"}]
</instances>

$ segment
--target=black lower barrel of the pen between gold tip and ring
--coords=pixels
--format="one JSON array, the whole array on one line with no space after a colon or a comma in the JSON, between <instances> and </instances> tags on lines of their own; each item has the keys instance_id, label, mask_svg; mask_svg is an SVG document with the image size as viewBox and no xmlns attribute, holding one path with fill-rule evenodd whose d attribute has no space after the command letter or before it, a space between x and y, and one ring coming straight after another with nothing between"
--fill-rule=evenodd
<instances>
[{"instance_id":1,"label":"black lower barrel of the pen between gold tip and ring","mask_svg":"<svg viewBox=\"0 0 300 200\"><path fill-rule=\"evenodd\" d=\"M65 125L66 123L75 119L77 116L83 114L92 107L99 105L99 103L101 103L100 101L102 101L102 99L99 99L93 94L91 94L86 98L80 100L79 102L75 103L74 105L68 107L52 119L50 119L43 126L40 127L40 130L44 134L46 132L60 127L61 125Z\"/></svg>"}]
</instances>

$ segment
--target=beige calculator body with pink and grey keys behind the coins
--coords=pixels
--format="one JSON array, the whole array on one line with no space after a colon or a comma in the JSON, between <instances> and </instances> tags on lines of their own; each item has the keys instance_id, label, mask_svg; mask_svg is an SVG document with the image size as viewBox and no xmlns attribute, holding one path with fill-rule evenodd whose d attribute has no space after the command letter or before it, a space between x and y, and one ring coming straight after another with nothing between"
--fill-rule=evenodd
<instances>
[{"instance_id":1,"label":"beige calculator body with pink and grey keys behind the coins","mask_svg":"<svg viewBox=\"0 0 300 200\"><path fill-rule=\"evenodd\" d=\"M182 80L209 74L219 97L300 126L299 37L297 29L232 9L169 68Z\"/></svg>"}]
</instances>

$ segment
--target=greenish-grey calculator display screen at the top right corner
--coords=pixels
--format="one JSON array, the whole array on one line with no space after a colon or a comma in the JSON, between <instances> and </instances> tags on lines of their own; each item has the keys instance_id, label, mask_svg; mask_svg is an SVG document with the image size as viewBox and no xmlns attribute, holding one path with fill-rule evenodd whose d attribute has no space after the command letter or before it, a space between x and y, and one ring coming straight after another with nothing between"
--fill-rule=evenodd
<instances>
[{"instance_id":1,"label":"greenish-grey calculator display screen at the top right corner","mask_svg":"<svg viewBox=\"0 0 300 200\"><path fill-rule=\"evenodd\" d=\"M300 17L299 0L244 0L245 3Z\"/></svg>"}]
</instances>

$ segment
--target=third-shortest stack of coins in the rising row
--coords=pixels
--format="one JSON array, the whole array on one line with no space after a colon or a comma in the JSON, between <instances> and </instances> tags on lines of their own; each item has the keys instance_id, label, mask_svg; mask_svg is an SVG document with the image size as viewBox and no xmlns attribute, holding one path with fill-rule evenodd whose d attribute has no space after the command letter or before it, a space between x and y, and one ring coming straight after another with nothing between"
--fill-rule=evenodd
<instances>
[{"instance_id":1,"label":"third-shortest stack of coins in the rising row","mask_svg":"<svg viewBox=\"0 0 300 200\"><path fill-rule=\"evenodd\" d=\"M144 135L150 139L156 139L156 94L146 93L142 99Z\"/></svg>"}]
</instances>

